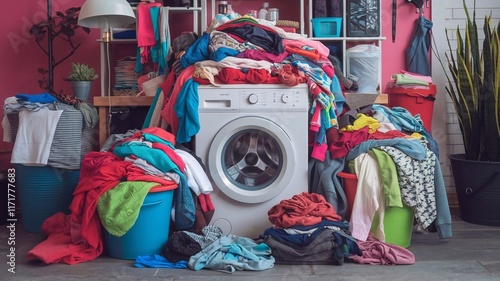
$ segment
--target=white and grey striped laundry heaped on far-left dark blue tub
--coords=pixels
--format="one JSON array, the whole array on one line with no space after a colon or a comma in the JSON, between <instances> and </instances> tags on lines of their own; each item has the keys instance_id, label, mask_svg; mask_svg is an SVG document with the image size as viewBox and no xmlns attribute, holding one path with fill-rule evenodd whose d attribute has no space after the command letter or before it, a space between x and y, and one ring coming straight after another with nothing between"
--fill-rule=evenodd
<instances>
[{"instance_id":1,"label":"white and grey striped laundry heaped on far-left dark blue tub","mask_svg":"<svg viewBox=\"0 0 500 281\"><path fill-rule=\"evenodd\" d=\"M14 143L11 163L79 169L97 121L97 109L75 97L17 94L4 102L3 141Z\"/></svg>"}]
</instances>

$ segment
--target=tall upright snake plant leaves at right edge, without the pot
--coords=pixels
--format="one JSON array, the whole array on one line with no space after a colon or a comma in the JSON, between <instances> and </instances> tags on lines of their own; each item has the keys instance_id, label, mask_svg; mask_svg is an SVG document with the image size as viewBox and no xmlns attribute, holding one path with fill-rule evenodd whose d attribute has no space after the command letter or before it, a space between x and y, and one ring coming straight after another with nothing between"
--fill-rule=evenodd
<instances>
[{"instance_id":1,"label":"tall upright snake plant leaves at right edge, without the pot","mask_svg":"<svg viewBox=\"0 0 500 281\"><path fill-rule=\"evenodd\" d=\"M456 49L446 32L450 72L446 74L446 91L458 116L466 159L500 162L500 22L492 29L491 15L485 16L481 48L476 2L472 17L465 0L463 6L466 25L464 36L459 27L456 29Z\"/></svg>"}]
</instances>

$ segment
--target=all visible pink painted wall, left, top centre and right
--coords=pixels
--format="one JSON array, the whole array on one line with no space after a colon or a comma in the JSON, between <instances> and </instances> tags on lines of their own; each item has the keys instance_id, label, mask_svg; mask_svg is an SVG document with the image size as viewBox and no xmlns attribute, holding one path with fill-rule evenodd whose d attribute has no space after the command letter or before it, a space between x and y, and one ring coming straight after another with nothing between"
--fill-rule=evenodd
<instances>
[{"instance_id":1,"label":"all visible pink painted wall, left, top centre and right","mask_svg":"<svg viewBox=\"0 0 500 281\"><path fill-rule=\"evenodd\" d=\"M53 0L53 11L64 11L69 7L81 6L84 0ZM234 10L245 13L249 9L259 9L264 1L237 0L229 1ZM289 0L269 1L271 6L280 9L280 18L299 17L298 1L295 5L290 5ZM398 0L398 25L396 42L391 41L391 1L382 1L382 35L387 39L382 44L382 88L390 80L391 74L399 72L405 68L404 52L409 44L415 21L418 14L415 13L415 6L406 3L406 0ZM0 25L0 32L4 40L0 41L0 55L2 56L2 67L0 77L2 81L2 92L0 99L3 101L9 96L18 93L40 93L37 80L41 78L37 69L47 68L47 56L38 48L35 40L29 35L29 28L46 18L46 1L21 0L7 2L3 5L3 23ZM210 6L210 3L209 3ZM307 7L306 7L307 11ZM426 15L430 17L430 9L425 9ZM208 11L210 15L210 11ZM210 21L209 16L209 21ZM78 30L74 37L75 42L81 42L76 53L61 65L57 66L54 77L54 88L63 90L65 94L71 93L69 83L63 81L70 69L71 62L86 63L99 70L99 44L96 40L100 37L99 30L92 29L87 35ZM65 50L55 44L55 54L63 53ZM99 83L93 85L94 95L100 94ZM2 102L3 104L3 102ZM3 108L0 109L3 116ZM0 132L3 139L3 131ZM0 143L0 150L11 148L9 143ZM2 161L3 162L3 161Z\"/></svg>"}]
</instances>

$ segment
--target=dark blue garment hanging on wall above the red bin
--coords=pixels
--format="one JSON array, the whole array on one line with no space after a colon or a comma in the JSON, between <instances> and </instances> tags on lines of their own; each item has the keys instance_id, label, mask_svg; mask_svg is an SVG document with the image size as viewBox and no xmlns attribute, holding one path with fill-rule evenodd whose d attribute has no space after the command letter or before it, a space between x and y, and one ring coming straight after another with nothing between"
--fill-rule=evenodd
<instances>
[{"instance_id":1,"label":"dark blue garment hanging on wall above the red bin","mask_svg":"<svg viewBox=\"0 0 500 281\"><path fill-rule=\"evenodd\" d=\"M406 50L406 70L422 75L431 75L430 50L432 21L420 12L410 46Z\"/></svg>"}]
</instances>

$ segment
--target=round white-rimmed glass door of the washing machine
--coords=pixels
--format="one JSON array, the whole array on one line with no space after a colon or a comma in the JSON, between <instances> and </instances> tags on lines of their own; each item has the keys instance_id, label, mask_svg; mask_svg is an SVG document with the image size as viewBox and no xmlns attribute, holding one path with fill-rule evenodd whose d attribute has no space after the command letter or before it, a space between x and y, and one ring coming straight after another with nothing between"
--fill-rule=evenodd
<instances>
[{"instance_id":1,"label":"round white-rimmed glass door of the washing machine","mask_svg":"<svg viewBox=\"0 0 500 281\"><path fill-rule=\"evenodd\" d=\"M241 117L216 134L208 168L216 186L242 203L260 203L280 194L295 172L290 137L276 123ZM293 184L293 183L292 183Z\"/></svg>"}]
</instances>

